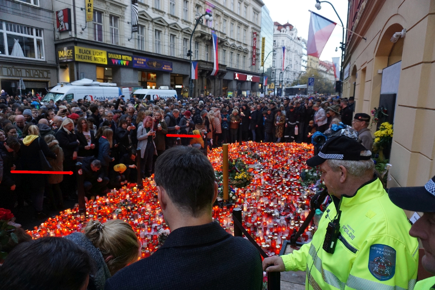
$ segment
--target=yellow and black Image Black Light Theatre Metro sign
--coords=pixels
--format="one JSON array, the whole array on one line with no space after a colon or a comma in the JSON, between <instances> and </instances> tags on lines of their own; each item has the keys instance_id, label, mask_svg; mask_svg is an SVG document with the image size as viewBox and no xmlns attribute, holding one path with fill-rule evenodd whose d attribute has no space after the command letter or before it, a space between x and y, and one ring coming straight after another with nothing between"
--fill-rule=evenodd
<instances>
[{"instance_id":1,"label":"yellow and black Image Black Light Theatre Metro sign","mask_svg":"<svg viewBox=\"0 0 435 290\"><path fill-rule=\"evenodd\" d=\"M107 52L88 47L60 47L57 50L57 59L59 62L75 60L85 63L107 64Z\"/></svg>"}]
</instances>

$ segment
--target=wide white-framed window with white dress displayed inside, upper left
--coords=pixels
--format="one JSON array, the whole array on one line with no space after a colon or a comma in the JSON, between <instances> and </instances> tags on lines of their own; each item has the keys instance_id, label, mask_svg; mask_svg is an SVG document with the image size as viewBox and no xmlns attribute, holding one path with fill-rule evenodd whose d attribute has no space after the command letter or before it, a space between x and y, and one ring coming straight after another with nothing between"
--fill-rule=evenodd
<instances>
[{"instance_id":1,"label":"wide white-framed window with white dress displayed inside, upper left","mask_svg":"<svg viewBox=\"0 0 435 290\"><path fill-rule=\"evenodd\" d=\"M0 54L43 60L42 29L0 21Z\"/></svg>"}]
</instances>

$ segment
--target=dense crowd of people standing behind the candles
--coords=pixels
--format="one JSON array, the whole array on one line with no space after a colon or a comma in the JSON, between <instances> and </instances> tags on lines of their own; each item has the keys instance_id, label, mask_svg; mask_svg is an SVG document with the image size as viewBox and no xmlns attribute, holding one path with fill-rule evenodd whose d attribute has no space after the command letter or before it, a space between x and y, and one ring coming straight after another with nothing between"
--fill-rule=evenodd
<instances>
[{"instance_id":1,"label":"dense crowd of people standing behind the candles","mask_svg":"<svg viewBox=\"0 0 435 290\"><path fill-rule=\"evenodd\" d=\"M191 100L50 100L43 97L0 98L0 207L13 210L33 203L44 218L43 201L63 209L77 200L77 166L84 173L87 198L119 188L140 176L150 177L165 150L185 145L210 151L222 143L311 142L332 124L354 126L368 134L370 117L354 119L354 100L338 97L204 97ZM199 138L167 137L194 134ZM363 134L363 135L364 135ZM137 156L140 148L140 156ZM141 168L136 168L141 158ZM1 161L0 161L1 162ZM72 171L72 175L12 174L15 170Z\"/></svg>"}]
</instances>

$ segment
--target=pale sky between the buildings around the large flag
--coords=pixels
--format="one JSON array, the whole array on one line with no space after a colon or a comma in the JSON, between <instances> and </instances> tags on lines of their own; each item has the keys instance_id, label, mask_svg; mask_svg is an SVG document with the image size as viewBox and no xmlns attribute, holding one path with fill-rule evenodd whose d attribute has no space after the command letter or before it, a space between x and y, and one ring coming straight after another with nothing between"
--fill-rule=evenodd
<instances>
[{"instance_id":1,"label":"pale sky between the buildings around the large flag","mask_svg":"<svg viewBox=\"0 0 435 290\"><path fill-rule=\"evenodd\" d=\"M334 5L335 10L337 10L338 15L340 15L340 18L346 27L348 1L329 0L329 2ZM335 14L331 5L328 3L321 3L321 10L317 10L314 6L316 4L315 0L263 0L263 3L268 7L273 21L278 21L281 24L287 23L288 21L298 30L298 36L305 39L308 39L308 25L310 23L310 12L308 10L312 10L337 24L340 24L337 14ZM329 40L322 51L320 60L332 61L332 57L341 57L340 42L342 31L341 27L338 25L335 26L331 37L329 37ZM335 52L335 47L338 47L337 52Z\"/></svg>"}]
</instances>

